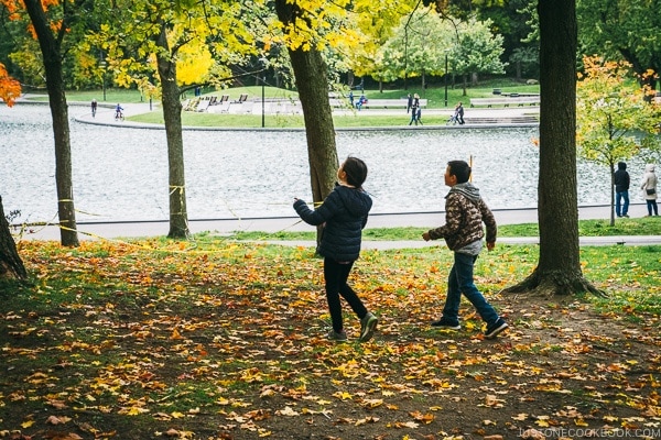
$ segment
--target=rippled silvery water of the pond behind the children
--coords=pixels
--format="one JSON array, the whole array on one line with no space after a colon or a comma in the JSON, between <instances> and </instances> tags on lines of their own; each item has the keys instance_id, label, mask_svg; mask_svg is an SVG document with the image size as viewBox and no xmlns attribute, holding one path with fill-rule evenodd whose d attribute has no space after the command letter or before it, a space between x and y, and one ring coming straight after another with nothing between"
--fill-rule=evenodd
<instances>
[{"instance_id":1,"label":"rippled silvery water of the pond behind the children","mask_svg":"<svg viewBox=\"0 0 661 440\"><path fill-rule=\"evenodd\" d=\"M72 107L69 114L86 111ZM71 135L78 221L167 219L164 131L72 120ZM351 154L367 162L375 213L443 209L446 163L470 157L474 184L491 208L528 208L537 206L537 136L530 128L338 131L337 148L340 161ZM312 198L303 132L185 131L184 148L189 219L292 216L294 197ZM48 107L0 106L0 154L6 213L56 216ZM579 163L578 176L579 205L609 202L607 168Z\"/></svg>"}]
</instances>

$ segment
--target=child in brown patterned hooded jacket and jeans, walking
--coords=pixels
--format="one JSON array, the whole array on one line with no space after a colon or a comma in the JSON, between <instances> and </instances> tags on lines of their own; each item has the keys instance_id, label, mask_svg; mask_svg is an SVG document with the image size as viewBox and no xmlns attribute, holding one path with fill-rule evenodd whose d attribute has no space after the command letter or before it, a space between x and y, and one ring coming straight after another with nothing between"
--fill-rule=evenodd
<instances>
[{"instance_id":1,"label":"child in brown patterned hooded jacket and jeans, walking","mask_svg":"<svg viewBox=\"0 0 661 440\"><path fill-rule=\"evenodd\" d=\"M468 182L469 177L470 166L466 162L447 163L444 178L449 193L445 196L445 224L422 234L425 241L445 239L445 243L454 252L443 315L440 320L432 322L432 327L453 330L462 328L459 302L464 294L487 323L485 338L494 339L508 324L475 286L473 268L483 248L483 223L487 227L489 251L496 245L498 228L494 213L481 199L478 188Z\"/></svg>"}]
</instances>

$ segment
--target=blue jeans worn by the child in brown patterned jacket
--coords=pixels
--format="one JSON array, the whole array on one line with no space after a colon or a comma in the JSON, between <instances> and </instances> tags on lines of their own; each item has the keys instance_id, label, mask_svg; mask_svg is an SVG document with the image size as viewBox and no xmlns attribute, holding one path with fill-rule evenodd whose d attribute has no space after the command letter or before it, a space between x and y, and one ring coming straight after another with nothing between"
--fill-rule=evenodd
<instances>
[{"instance_id":1,"label":"blue jeans worn by the child in brown patterned jacket","mask_svg":"<svg viewBox=\"0 0 661 440\"><path fill-rule=\"evenodd\" d=\"M487 302L473 282L473 265L476 260L477 255L454 253L455 262L447 278L447 295L443 307L443 317L453 321L458 319L459 302L462 301L462 294L464 294L481 319L490 326L498 320L498 314Z\"/></svg>"}]
</instances>

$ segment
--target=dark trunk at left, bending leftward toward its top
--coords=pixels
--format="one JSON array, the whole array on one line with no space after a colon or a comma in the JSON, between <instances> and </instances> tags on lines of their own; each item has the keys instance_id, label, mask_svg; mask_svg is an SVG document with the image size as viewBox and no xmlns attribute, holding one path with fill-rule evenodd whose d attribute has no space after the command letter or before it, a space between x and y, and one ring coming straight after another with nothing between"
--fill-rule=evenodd
<instances>
[{"instance_id":1,"label":"dark trunk at left, bending leftward toward its top","mask_svg":"<svg viewBox=\"0 0 661 440\"><path fill-rule=\"evenodd\" d=\"M57 213L62 245L78 246L74 186L72 183L72 144L69 139L68 110L62 79L62 51L39 0L25 0L25 9L36 32L44 58L48 103L53 119L55 140L55 183L57 186Z\"/></svg>"}]
</instances>

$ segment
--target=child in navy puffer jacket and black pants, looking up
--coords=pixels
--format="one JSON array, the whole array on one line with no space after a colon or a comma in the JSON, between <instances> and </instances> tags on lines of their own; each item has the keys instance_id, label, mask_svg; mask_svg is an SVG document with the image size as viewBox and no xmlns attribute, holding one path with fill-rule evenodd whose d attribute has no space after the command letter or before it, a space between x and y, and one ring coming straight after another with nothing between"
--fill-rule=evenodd
<instances>
[{"instance_id":1,"label":"child in navy puffer jacket and black pants, looking up","mask_svg":"<svg viewBox=\"0 0 661 440\"><path fill-rule=\"evenodd\" d=\"M369 312L356 292L347 284L354 263L360 254L362 229L372 200L362 189L367 178L367 165L357 157L347 157L337 170L338 184L316 209L311 210L305 201L294 199L296 213L308 224L324 226L317 252L324 257L326 299L333 320L328 339L346 341L339 296L360 319L361 342L368 341L377 328L377 317Z\"/></svg>"}]
</instances>

